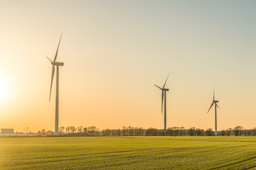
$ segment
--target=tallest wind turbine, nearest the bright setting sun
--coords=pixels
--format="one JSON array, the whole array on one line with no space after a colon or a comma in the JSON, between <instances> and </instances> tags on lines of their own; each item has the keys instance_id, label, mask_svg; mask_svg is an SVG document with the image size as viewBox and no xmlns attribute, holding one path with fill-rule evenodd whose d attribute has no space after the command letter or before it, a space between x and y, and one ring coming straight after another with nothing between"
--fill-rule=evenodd
<instances>
[{"instance_id":1,"label":"tallest wind turbine, nearest the bright setting sun","mask_svg":"<svg viewBox=\"0 0 256 170\"><path fill-rule=\"evenodd\" d=\"M60 35L60 40L62 37L62 33ZM51 90L52 90L52 86L53 86L53 77L54 77L54 73L55 73L55 66L57 67L57 77L56 77L56 101L55 101L55 135L58 135L58 83L59 83L59 67L63 66L64 63L63 62L56 62L57 59L57 55L58 55L58 48L60 46L60 41L58 43L58 47L57 47L57 51L54 57L54 60L50 60L48 57L48 60L50 60L51 64L53 65L53 69L52 69L52 76L51 76L51 82L50 82L50 94L51 94ZM50 102L50 98L49 98L49 102Z\"/></svg>"}]
</instances>

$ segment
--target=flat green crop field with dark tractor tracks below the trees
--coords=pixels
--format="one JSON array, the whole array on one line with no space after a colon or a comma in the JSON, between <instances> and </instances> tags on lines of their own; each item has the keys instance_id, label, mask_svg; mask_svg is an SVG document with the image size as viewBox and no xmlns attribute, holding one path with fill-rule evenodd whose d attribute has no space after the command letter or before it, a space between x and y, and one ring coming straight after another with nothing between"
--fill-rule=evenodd
<instances>
[{"instance_id":1,"label":"flat green crop field with dark tractor tracks below the trees","mask_svg":"<svg viewBox=\"0 0 256 170\"><path fill-rule=\"evenodd\" d=\"M256 169L256 137L1 137L0 169Z\"/></svg>"}]
</instances>

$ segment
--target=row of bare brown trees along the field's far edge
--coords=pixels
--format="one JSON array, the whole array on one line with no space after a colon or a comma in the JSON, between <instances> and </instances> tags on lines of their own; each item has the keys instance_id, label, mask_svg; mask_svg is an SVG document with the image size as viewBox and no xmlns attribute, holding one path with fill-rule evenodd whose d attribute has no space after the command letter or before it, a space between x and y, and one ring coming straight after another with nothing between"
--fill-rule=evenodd
<instances>
[{"instance_id":1,"label":"row of bare brown trees along the field's far edge","mask_svg":"<svg viewBox=\"0 0 256 170\"><path fill-rule=\"evenodd\" d=\"M214 136L214 130L208 128L202 130L199 128L184 127L170 127L166 130L167 136ZM217 133L219 136L256 136L256 128L247 130L242 126L235 128L228 128L227 130L220 130ZM45 129L39 130L36 135L38 136L53 136L53 131L46 131ZM82 127L68 126L59 128L60 136L164 136L163 129L156 128L134 128L132 126L125 127L122 129L104 129L100 130L95 126Z\"/></svg>"}]
</instances>

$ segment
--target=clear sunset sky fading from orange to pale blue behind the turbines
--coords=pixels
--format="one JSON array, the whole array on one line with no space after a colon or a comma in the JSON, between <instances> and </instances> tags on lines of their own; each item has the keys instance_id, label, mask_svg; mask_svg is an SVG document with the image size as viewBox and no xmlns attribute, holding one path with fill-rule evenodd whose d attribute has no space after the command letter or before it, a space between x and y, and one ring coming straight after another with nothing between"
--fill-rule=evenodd
<instances>
[{"instance_id":1,"label":"clear sunset sky fading from orange to pale blue behind the turbines","mask_svg":"<svg viewBox=\"0 0 256 170\"><path fill-rule=\"evenodd\" d=\"M0 128L256 127L255 1L0 1Z\"/></svg>"}]
</instances>

